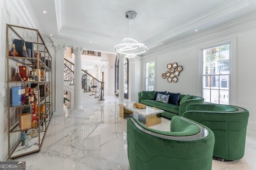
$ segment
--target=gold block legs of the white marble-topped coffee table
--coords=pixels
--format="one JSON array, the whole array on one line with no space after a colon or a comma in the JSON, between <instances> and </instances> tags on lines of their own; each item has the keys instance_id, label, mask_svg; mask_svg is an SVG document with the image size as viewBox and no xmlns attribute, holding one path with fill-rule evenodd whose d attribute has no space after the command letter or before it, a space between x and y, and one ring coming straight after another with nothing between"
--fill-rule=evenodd
<instances>
[{"instance_id":1,"label":"gold block legs of the white marble-topped coffee table","mask_svg":"<svg viewBox=\"0 0 256 170\"><path fill-rule=\"evenodd\" d=\"M133 114L132 111L127 110L123 105L119 105L119 116L124 119L125 115ZM162 122L161 117L157 117L156 115L146 116L146 127L158 125Z\"/></svg>"}]
</instances>

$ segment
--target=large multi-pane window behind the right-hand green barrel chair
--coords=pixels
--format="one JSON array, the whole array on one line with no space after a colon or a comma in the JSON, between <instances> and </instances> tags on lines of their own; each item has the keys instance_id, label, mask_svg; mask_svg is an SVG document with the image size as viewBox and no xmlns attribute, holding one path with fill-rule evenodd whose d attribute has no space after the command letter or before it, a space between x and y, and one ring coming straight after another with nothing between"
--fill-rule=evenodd
<instances>
[{"instance_id":1,"label":"large multi-pane window behind the right-hand green barrel chair","mask_svg":"<svg viewBox=\"0 0 256 170\"><path fill-rule=\"evenodd\" d=\"M202 50L204 102L229 104L230 44Z\"/></svg>"}]
</instances>

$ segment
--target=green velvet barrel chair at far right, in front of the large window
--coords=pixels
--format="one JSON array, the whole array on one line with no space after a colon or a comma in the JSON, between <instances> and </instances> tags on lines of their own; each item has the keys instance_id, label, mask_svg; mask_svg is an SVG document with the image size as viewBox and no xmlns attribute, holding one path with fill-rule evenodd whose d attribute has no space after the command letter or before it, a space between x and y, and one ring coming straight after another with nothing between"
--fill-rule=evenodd
<instances>
[{"instance_id":1,"label":"green velvet barrel chair at far right, in front of the large window","mask_svg":"<svg viewBox=\"0 0 256 170\"><path fill-rule=\"evenodd\" d=\"M248 110L221 104L192 104L186 107L182 116L213 131L214 159L230 161L244 156Z\"/></svg>"}]
</instances>

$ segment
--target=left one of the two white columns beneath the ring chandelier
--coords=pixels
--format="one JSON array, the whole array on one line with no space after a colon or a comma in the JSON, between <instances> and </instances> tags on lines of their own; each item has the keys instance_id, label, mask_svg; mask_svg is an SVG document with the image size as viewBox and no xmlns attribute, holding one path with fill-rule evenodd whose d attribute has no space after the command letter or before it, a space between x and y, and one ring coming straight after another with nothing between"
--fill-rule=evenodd
<instances>
[{"instance_id":1,"label":"left one of the two white columns beneath the ring chandelier","mask_svg":"<svg viewBox=\"0 0 256 170\"><path fill-rule=\"evenodd\" d=\"M119 58L119 75L118 75L118 104L124 103L124 55L118 54Z\"/></svg>"}]
</instances>

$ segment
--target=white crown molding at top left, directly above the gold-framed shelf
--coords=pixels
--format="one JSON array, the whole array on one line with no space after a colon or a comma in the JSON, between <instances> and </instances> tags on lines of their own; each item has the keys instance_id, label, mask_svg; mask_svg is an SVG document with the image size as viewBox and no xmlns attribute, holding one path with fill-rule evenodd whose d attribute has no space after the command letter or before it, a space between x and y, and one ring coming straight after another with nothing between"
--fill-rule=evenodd
<instances>
[{"instance_id":1,"label":"white crown molding at top left, directly above the gold-framed shelf","mask_svg":"<svg viewBox=\"0 0 256 170\"><path fill-rule=\"evenodd\" d=\"M36 19L36 16L28 0L9 0L9 2L14 9L15 14L18 16L18 18L20 18L24 26L38 29L42 37L44 37L43 31Z\"/></svg>"}]
</instances>

